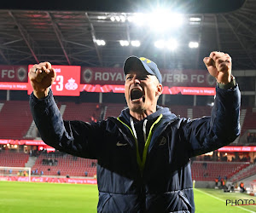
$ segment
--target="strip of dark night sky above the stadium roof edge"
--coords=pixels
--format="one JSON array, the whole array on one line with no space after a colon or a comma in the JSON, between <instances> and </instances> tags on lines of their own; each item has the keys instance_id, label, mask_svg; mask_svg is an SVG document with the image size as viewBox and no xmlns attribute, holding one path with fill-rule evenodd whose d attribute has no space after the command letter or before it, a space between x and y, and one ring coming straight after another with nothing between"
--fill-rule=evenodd
<instances>
[{"instance_id":1,"label":"strip of dark night sky above the stadium roof edge","mask_svg":"<svg viewBox=\"0 0 256 213\"><path fill-rule=\"evenodd\" d=\"M225 13L241 8L245 0L4 0L0 9L36 9L99 12L151 12L156 6L180 13Z\"/></svg>"}]
</instances>

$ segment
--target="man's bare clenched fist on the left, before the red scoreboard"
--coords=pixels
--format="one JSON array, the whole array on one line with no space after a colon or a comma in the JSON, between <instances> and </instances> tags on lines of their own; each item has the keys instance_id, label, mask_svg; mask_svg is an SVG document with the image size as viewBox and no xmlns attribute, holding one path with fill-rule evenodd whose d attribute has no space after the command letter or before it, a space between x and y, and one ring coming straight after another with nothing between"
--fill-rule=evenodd
<instances>
[{"instance_id":1,"label":"man's bare clenched fist on the left, before the red scoreboard","mask_svg":"<svg viewBox=\"0 0 256 213\"><path fill-rule=\"evenodd\" d=\"M42 99L48 95L49 86L54 83L56 72L49 62L42 62L32 66L28 72L28 78L32 84L34 95L38 99Z\"/></svg>"}]
</instances>

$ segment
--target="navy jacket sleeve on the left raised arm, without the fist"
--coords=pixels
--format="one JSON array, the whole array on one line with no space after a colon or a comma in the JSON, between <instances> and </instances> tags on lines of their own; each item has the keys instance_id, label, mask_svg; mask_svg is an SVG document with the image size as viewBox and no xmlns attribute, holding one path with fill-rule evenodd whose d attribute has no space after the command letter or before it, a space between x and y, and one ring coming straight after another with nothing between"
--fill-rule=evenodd
<instances>
[{"instance_id":1,"label":"navy jacket sleeve on the left raised arm, without the fist","mask_svg":"<svg viewBox=\"0 0 256 213\"><path fill-rule=\"evenodd\" d=\"M104 121L93 124L63 121L51 90L42 100L32 93L29 102L38 131L50 147L83 158L97 158L100 155Z\"/></svg>"}]
</instances>

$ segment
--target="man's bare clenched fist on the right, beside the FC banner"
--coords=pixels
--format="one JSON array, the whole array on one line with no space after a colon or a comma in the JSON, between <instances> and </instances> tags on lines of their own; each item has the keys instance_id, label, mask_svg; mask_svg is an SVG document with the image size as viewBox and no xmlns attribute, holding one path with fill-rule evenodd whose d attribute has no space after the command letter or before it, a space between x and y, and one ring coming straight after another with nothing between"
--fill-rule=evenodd
<instances>
[{"instance_id":1,"label":"man's bare clenched fist on the right, beside the FC banner","mask_svg":"<svg viewBox=\"0 0 256 213\"><path fill-rule=\"evenodd\" d=\"M218 83L227 84L231 81L231 57L223 52L212 52L204 58L208 72L216 78Z\"/></svg>"}]
</instances>

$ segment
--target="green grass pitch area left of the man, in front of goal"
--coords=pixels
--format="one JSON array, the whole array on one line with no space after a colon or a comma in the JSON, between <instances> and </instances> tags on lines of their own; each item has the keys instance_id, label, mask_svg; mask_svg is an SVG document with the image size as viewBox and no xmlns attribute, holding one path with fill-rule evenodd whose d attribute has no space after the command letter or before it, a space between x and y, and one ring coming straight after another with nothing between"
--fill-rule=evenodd
<instances>
[{"instance_id":1,"label":"green grass pitch area left of the man, in front of goal","mask_svg":"<svg viewBox=\"0 0 256 213\"><path fill-rule=\"evenodd\" d=\"M0 212L96 212L96 185L0 181Z\"/></svg>"}]
</instances>

